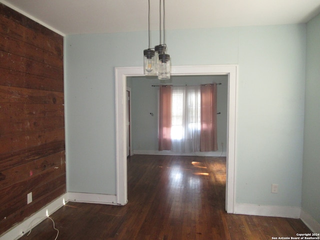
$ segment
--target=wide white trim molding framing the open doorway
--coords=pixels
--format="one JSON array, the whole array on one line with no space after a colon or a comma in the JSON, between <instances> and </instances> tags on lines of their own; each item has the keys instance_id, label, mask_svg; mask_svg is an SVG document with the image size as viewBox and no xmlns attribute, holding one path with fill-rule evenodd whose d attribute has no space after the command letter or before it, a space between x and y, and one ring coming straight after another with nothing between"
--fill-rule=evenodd
<instances>
[{"instance_id":1,"label":"wide white trim molding framing the open doorway","mask_svg":"<svg viewBox=\"0 0 320 240\"><path fill-rule=\"evenodd\" d=\"M143 67L115 67L115 154L116 154L116 202L127 202L126 166L126 77L143 76ZM236 152L236 99L238 65L172 66L171 75L228 75L228 114L226 147L226 203L228 213L234 212L235 203L235 152Z\"/></svg>"}]
</instances>

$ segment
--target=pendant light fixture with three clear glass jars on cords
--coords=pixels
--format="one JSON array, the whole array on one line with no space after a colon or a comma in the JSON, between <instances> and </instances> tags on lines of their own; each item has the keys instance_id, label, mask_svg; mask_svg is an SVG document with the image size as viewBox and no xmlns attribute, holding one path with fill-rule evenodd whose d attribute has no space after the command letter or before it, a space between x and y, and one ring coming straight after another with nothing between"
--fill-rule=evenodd
<instances>
[{"instance_id":1,"label":"pendant light fixture with three clear glass jars on cords","mask_svg":"<svg viewBox=\"0 0 320 240\"><path fill-rule=\"evenodd\" d=\"M144 75L157 75L158 79L170 79L171 63L170 55L166 53L165 44L165 10L163 1L163 44L161 36L161 0L159 0L159 35L160 43L154 47L154 50L150 48L150 0L148 0L148 38L149 47L143 51L143 69Z\"/></svg>"}]
</instances>

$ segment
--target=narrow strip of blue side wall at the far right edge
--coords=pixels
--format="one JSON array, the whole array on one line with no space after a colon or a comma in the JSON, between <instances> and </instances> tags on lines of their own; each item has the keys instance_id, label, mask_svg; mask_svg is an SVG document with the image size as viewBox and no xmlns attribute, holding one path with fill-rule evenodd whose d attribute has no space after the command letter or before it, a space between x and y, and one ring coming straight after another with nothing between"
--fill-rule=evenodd
<instances>
[{"instance_id":1,"label":"narrow strip of blue side wall at the far right edge","mask_svg":"<svg viewBox=\"0 0 320 240\"><path fill-rule=\"evenodd\" d=\"M320 14L306 25L302 209L320 224Z\"/></svg>"}]
</instances>

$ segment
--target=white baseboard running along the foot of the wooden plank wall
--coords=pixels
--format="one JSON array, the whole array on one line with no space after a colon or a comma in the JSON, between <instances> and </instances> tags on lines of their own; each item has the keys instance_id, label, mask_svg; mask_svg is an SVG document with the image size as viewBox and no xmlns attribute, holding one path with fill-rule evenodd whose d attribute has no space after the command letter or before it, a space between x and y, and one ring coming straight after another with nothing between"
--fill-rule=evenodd
<instances>
[{"instance_id":1,"label":"white baseboard running along the foot of the wooden plank wall","mask_svg":"<svg viewBox=\"0 0 320 240\"><path fill-rule=\"evenodd\" d=\"M64 193L60 197L56 198L46 206L42 207L40 210L35 212L33 215L28 217L27 219L21 221L20 223L14 225L12 228L4 232L0 236L0 240L12 240L18 239L24 233L28 232L32 227L39 224L43 221L47 216L52 214L54 211L63 206L68 199L68 193Z\"/></svg>"}]
</instances>

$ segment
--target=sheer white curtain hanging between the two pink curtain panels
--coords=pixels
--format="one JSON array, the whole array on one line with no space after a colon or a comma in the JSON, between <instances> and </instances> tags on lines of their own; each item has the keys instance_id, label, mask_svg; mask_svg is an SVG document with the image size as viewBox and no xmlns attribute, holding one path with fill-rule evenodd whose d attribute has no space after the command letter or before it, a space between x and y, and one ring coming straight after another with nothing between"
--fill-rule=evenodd
<instances>
[{"instance_id":1,"label":"sheer white curtain hanging between the two pink curtain panels","mask_svg":"<svg viewBox=\"0 0 320 240\"><path fill-rule=\"evenodd\" d=\"M171 150L200 149L200 86L172 86Z\"/></svg>"}]
</instances>

